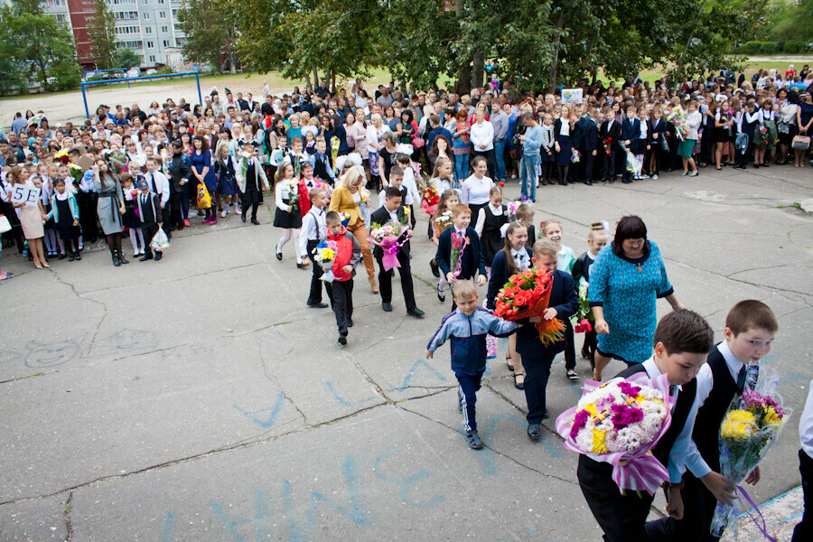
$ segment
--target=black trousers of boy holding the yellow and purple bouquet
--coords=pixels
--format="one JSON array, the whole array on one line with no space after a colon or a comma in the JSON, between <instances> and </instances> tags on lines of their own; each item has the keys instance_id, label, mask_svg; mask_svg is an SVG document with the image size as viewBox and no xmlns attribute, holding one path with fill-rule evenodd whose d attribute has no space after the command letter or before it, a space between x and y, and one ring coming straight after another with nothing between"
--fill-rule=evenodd
<instances>
[{"instance_id":1,"label":"black trousers of boy holding the yellow and purple bouquet","mask_svg":"<svg viewBox=\"0 0 813 542\"><path fill-rule=\"evenodd\" d=\"M715 515L717 500L711 491L706 490L702 481L691 472L683 475L684 487L680 491L683 498L683 519L662 518L649 521L647 535L652 540L664 542L712 542L719 540L711 535L711 520ZM667 497L668 498L668 497Z\"/></svg>"}]
</instances>

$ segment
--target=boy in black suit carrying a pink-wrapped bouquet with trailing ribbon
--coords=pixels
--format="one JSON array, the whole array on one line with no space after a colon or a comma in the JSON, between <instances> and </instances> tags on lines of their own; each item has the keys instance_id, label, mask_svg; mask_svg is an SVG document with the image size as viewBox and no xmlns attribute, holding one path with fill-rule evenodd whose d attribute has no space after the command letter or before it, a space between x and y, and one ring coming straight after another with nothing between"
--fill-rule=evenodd
<instances>
[{"instance_id":1,"label":"boy in black suit carrying a pink-wrapped bouquet with trailing ribbon","mask_svg":"<svg viewBox=\"0 0 813 542\"><path fill-rule=\"evenodd\" d=\"M388 222L406 225L406 213L401 206L401 192L394 186L390 186L384 194L384 205L370 215L370 221L378 226L384 226ZM398 273L401 275L401 289L404 291L404 302L406 303L406 313L410 316L420 318L424 312L417 308L415 303L415 291L412 285L412 271L409 268L409 243L406 239L412 233L411 229L401 234L399 240L404 244L398 248ZM381 293L381 308L385 312L392 312L392 274L390 270L384 269L384 249L376 246L373 248L373 257L378 261L378 289Z\"/></svg>"}]
</instances>

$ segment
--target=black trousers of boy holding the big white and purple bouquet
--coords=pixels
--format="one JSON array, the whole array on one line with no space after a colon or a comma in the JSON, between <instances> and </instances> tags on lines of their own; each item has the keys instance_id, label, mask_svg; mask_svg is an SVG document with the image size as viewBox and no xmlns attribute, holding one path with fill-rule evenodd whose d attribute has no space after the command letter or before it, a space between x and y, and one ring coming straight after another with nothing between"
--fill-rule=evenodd
<instances>
[{"instance_id":1,"label":"black trousers of boy holding the big white and purple bouquet","mask_svg":"<svg viewBox=\"0 0 813 542\"><path fill-rule=\"evenodd\" d=\"M524 365L525 360L522 361ZM653 497L646 491L642 491L640 495L636 491L621 494L612 481L611 474L610 463L598 463L586 455L579 455L576 476L587 506L604 531L604 540L649 542L644 524L649 516Z\"/></svg>"}]
</instances>

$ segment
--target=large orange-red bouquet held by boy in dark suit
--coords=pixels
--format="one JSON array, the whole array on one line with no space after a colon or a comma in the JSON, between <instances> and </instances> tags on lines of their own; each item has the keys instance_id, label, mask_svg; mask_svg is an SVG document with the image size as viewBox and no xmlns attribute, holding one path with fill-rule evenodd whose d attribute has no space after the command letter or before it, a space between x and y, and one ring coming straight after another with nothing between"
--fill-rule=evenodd
<instances>
[{"instance_id":1,"label":"large orange-red bouquet held by boy in dark suit","mask_svg":"<svg viewBox=\"0 0 813 542\"><path fill-rule=\"evenodd\" d=\"M553 274L547 269L531 268L509 278L497 294L497 316L510 322L542 316L550 301ZM536 323L542 344L553 344L565 337L565 324L558 318L541 319Z\"/></svg>"}]
</instances>

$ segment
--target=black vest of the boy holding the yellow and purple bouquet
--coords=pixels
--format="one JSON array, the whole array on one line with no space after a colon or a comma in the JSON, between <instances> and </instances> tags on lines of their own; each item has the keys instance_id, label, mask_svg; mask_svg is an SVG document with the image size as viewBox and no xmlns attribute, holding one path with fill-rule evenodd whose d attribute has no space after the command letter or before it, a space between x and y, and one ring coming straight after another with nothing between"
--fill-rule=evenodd
<instances>
[{"instance_id":1,"label":"black vest of the boy holding the yellow and purple bouquet","mask_svg":"<svg viewBox=\"0 0 813 542\"><path fill-rule=\"evenodd\" d=\"M716 347L708 355L707 363L712 369L715 386L708 394L706 402L697 411L692 440L695 441L697 451L706 460L709 468L720 472L720 425L731 400L740 390L731 376L731 371L728 370L723 354Z\"/></svg>"}]
</instances>

